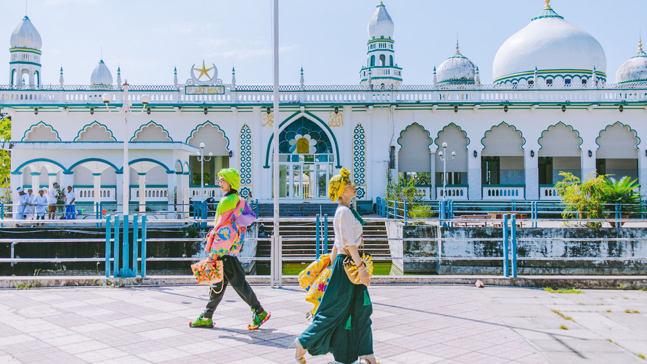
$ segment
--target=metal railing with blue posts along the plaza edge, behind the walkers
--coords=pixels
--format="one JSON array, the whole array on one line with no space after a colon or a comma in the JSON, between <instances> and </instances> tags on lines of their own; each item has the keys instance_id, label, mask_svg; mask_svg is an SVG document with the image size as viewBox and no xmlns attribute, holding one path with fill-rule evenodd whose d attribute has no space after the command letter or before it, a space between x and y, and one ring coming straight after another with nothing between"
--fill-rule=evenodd
<instances>
[{"instance_id":1,"label":"metal railing with blue posts along the plaza edge, behind the walkers","mask_svg":"<svg viewBox=\"0 0 647 364\"><path fill-rule=\"evenodd\" d=\"M396 210L397 211L397 210ZM329 251L329 247L332 245L329 242L328 231L328 216L318 216L315 221L315 246L314 254L309 255L300 255L300 256L282 256L281 251L283 250L283 242L289 241L303 241L303 236L295 237L285 237L280 236L279 240L279 251L276 252L272 250L270 256L241 256L241 260L255 261L255 262L267 262L271 261L273 258L276 258L275 255L278 254L280 262L310 262L314 259L317 259L321 256L322 253ZM367 219L370 221L370 219ZM402 219L396 218L389 219L389 222L401 222ZM534 226L536 219L526 219L527 222L531 223ZM523 220L523 221L526 221ZM562 220L551 220L548 221L556 222ZM631 219L613 219L617 223L635 221ZM380 220L384 221L384 220ZM518 275L518 262L519 261L532 261L532 260L549 260L549 261L560 261L560 260L622 260L622 261L645 261L647 262L647 256L521 256L518 251L519 242L528 242L534 240L553 240L553 241L564 241L564 242L637 242L644 240L644 238L633 238L633 237L602 237L602 238L565 238L565 237L550 237L550 238L536 238L536 237L518 237L518 229L520 228L521 220L516 218L516 214L503 214L501 219L488 219L488 220L474 220L475 222L493 222L499 225L497 229L501 229L499 235L488 236L486 238L454 238L448 236L441 236L439 234L437 237L393 237L389 236L387 238L364 238L366 242L371 241L384 241L388 240L389 243L395 242L435 242L437 244L437 253L435 256L405 256L404 252L402 255L394 256L393 250L388 256L375 256L373 260L375 262L395 262L399 260L404 261L419 261L419 262L442 262L448 260L466 260L466 261L483 261L483 260L501 260L501 269L503 271L503 276L505 277L517 277ZM606 219L579 219L576 222L606 222ZM206 223L206 220L196 220L195 223ZM428 222L425 219L410 219L409 222ZM452 218L448 219L439 219L441 225L444 223L446 226L452 226L457 221ZM162 237L162 238L149 238L148 231L151 227L151 223L160 226L177 226L178 223L192 223L187 222L186 220L175 220L175 219L160 219L160 220L149 220L146 214L133 215L132 217L124 220L124 216L120 215L108 215L105 218L100 220L45 220L47 225L60 225L62 223L74 223L78 226L87 226L87 225L100 225L104 226L104 233L98 232L98 234L104 234L102 238L0 238L0 244L10 244L10 256L5 258L0 258L0 263L9 263L11 266L22 263L76 263L76 262L96 262L97 264L105 264L105 277L146 277L147 275L147 262L197 262L206 256L206 253L196 256L150 256L148 253L149 244L154 243L169 243L169 244L185 244L185 243L195 243L203 242L204 238L175 238L175 237ZM311 238L311 236L307 236ZM245 238L245 241L248 242L270 242L270 237L265 236L248 236ZM39 257L39 258L22 258L17 257L15 254L15 247L17 244L34 244L34 243L80 243L87 242L91 244L96 244L96 247L101 245L105 246L105 256L87 256L87 257ZM459 242L495 242L498 243L493 245L496 249L501 249L501 255L492 255L491 253L483 253L479 256L448 256L443 255L443 246L447 244L454 244ZM495 250L496 250L495 249ZM304 249L309 251L310 249ZM97 249L100 251L100 249ZM640 254L640 253L639 253ZM281 266L281 264L280 264ZM304 266L305 267L305 266ZM186 267L188 269L188 266ZM183 268L184 269L184 268ZM280 268L281 269L281 268ZM280 273L282 277L282 273Z\"/></svg>"}]
</instances>

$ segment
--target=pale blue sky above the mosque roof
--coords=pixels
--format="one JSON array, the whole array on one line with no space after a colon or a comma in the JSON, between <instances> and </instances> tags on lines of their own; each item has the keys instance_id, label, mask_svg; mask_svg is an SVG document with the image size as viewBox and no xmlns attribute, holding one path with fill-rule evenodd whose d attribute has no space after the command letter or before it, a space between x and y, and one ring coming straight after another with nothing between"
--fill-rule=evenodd
<instances>
[{"instance_id":1,"label":"pale blue sky above the mosque roof","mask_svg":"<svg viewBox=\"0 0 647 364\"><path fill-rule=\"evenodd\" d=\"M272 84L271 0L0 0L0 37L27 15L43 38L43 84L87 85L103 57L116 80L172 84L190 78L193 64L215 63L218 77ZM280 83L358 84L366 62L366 27L378 0L280 0ZM434 65L461 52L492 82L492 61L503 42L525 27L543 0L384 0L395 23L395 62L404 84L430 84ZM646 0L553 0L565 20L593 35L607 57L608 82L647 32ZM27 7L27 10L25 8ZM647 43L646 43L647 44ZM8 49L5 60L9 62ZM8 64L8 63L7 63ZM8 84L8 72L0 77Z\"/></svg>"}]
</instances>

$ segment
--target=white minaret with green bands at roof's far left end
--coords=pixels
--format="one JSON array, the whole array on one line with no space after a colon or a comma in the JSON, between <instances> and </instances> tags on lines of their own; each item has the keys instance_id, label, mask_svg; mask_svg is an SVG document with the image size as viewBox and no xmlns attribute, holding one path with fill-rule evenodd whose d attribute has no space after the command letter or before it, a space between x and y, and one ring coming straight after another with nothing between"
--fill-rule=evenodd
<instances>
[{"instance_id":1,"label":"white minaret with green bands at roof's far left end","mask_svg":"<svg viewBox=\"0 0 647 364\"><path fill-rule=\"evenodd\" d=\"M10 38L9 83L14 86L41 85L41 40L38 30L23 17Z\"/></svg>"}]
</instances>

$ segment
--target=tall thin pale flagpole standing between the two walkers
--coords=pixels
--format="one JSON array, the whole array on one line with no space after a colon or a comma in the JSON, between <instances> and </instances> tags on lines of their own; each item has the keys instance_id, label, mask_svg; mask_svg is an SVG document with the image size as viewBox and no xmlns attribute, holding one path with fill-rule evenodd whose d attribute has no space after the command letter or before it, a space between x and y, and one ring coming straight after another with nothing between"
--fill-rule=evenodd
<instances>
[{"instance_id":1,"label":"tall thin pale flagpole standing between the two walkers","mask_svg":"<svg viewBox=\"0 0 647 364\"><path fill-rule=\"evenodd\" d=\"M274 178L272 179L272 184L274 188L272 188L272 190L274 191L274 229L272 233L272 247L274 249L272 249L272 253L274 254L271 259L274 264L270 264L270 267L272 268L272 287L274 287L275 284L278 284L278 286L281 287L281 246L279 238L279 0L274 0L273 24L274 37L272 55L274 58L274 121L272 122L272 126L274 128L274 172L272 175ZM269 116L270 115L268 115L268 117Z\"/></svg>"}]
</instances>

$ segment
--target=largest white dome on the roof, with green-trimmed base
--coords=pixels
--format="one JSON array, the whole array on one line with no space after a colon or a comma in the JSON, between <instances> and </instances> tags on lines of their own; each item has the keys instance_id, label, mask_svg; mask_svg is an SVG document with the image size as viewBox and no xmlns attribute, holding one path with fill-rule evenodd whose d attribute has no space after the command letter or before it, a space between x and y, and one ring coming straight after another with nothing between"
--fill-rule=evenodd
<instances>
[{"instance_id":1,"label":"largest white dome on the roof, with green-trimmed base","mask_svg":"<svg viewBox=\"0 0 647 364\"><path fill-rule=\"evenodd\" d=\"M598 78L606 80L602 45L591 34L565 21L549 2L539 16L496 52L492 67L495 83L525 83L532 79L535 67L542 80L589 78L593 67Z\"/></svg>"}]
</instances>

